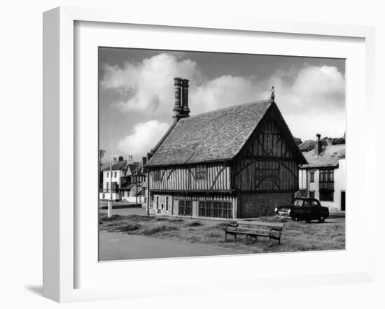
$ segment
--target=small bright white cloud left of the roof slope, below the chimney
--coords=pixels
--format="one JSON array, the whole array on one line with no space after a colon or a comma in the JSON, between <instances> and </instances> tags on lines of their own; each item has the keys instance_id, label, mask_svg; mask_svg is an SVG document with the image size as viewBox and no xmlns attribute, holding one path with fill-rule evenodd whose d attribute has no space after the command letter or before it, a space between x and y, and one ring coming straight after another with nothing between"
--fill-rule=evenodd
<instances>
[{"instance_id":1,"label":"small bright white cloud left of the roof slope, below the chimney","mask_svg":"<svg viewBox=\"0 0 385 309\"><path fill-rule=\"evenodd\" d=\"M135 159L146 156L169 129L169 124L150 120L134 125L133 132L118 142L118 151L134 155Z\"/></svg>"}]
</instances>

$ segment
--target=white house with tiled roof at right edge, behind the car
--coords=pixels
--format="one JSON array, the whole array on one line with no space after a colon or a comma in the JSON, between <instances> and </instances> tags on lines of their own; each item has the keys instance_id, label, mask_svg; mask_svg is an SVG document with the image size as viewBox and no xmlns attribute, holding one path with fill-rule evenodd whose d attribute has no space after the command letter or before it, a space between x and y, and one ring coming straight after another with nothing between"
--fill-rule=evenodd
<instances>
[{"instance_id":1,"label":"white house with tiled roof at right edge, behind the car","mask_svg":"<svg viewBox=\"0 0 385 309\"><path fill-rule=\"evenodd\" d=\"M318 199L330 211L345 211L345 145L323 145L317 134L314 149L304 152L307 164L300 166L299 195Z\"/></svg>"}]
</instances>

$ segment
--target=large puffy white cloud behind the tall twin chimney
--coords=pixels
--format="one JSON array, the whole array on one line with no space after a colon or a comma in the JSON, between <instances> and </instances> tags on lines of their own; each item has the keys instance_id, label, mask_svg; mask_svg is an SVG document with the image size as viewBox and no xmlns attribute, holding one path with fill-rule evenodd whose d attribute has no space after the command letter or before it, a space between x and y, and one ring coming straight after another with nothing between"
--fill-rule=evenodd
<instances>
[{"instance_id":1,"label":"large puffy white cloud behind the tall twin chimney","mask_svg":"<svg viewBox=\"0 0 385 309\"><path fill-rule=\"evenodd\" d=\"M172 109L172 82L177 76L190 79L192 87L195 87L195 81L201 80L196 62L190 59L179 61L173 55L160 54L140 63L126 62L123 69L106 64L101 86L128 96L127 100L114 104L123 111L158 113L165 106Z\"/></svg>"}]
</instances>

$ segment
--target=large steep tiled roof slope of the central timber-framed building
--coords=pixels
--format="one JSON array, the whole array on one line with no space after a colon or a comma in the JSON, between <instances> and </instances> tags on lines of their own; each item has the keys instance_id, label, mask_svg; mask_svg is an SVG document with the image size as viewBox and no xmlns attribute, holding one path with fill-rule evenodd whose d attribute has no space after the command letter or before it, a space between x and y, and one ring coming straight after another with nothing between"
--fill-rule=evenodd
<instances>
[{"instance_id":1,"label":"large steep tiled roof slope of the central timber-framed building","mask_svg":"<svg viewBox=\"0 0 385 309\"><path fill-rule=\"evenodd\" d=\"M258 101L183 118L158 143L146 166L233 159L271 106L272 100Z\"/></svg>"}]
</instances>

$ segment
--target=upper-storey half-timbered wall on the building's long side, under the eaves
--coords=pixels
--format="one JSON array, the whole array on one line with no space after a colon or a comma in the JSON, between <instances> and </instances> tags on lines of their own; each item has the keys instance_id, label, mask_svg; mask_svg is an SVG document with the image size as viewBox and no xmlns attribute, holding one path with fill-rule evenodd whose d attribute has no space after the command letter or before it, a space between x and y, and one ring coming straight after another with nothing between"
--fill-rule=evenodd
<instances>
[{"instance_id":1,"label":"upper-storey half-timbered wall on the building's long side, under the eaves","mask_svg":"<svg viewBox=\"0 0 385 309\"><path fill-rule=\"evenodd\" d=\"M230 189L230 167L225 164L158 168L149 171L149 178L151 190L207 192Z\"/></svg>"}]
</instances>

